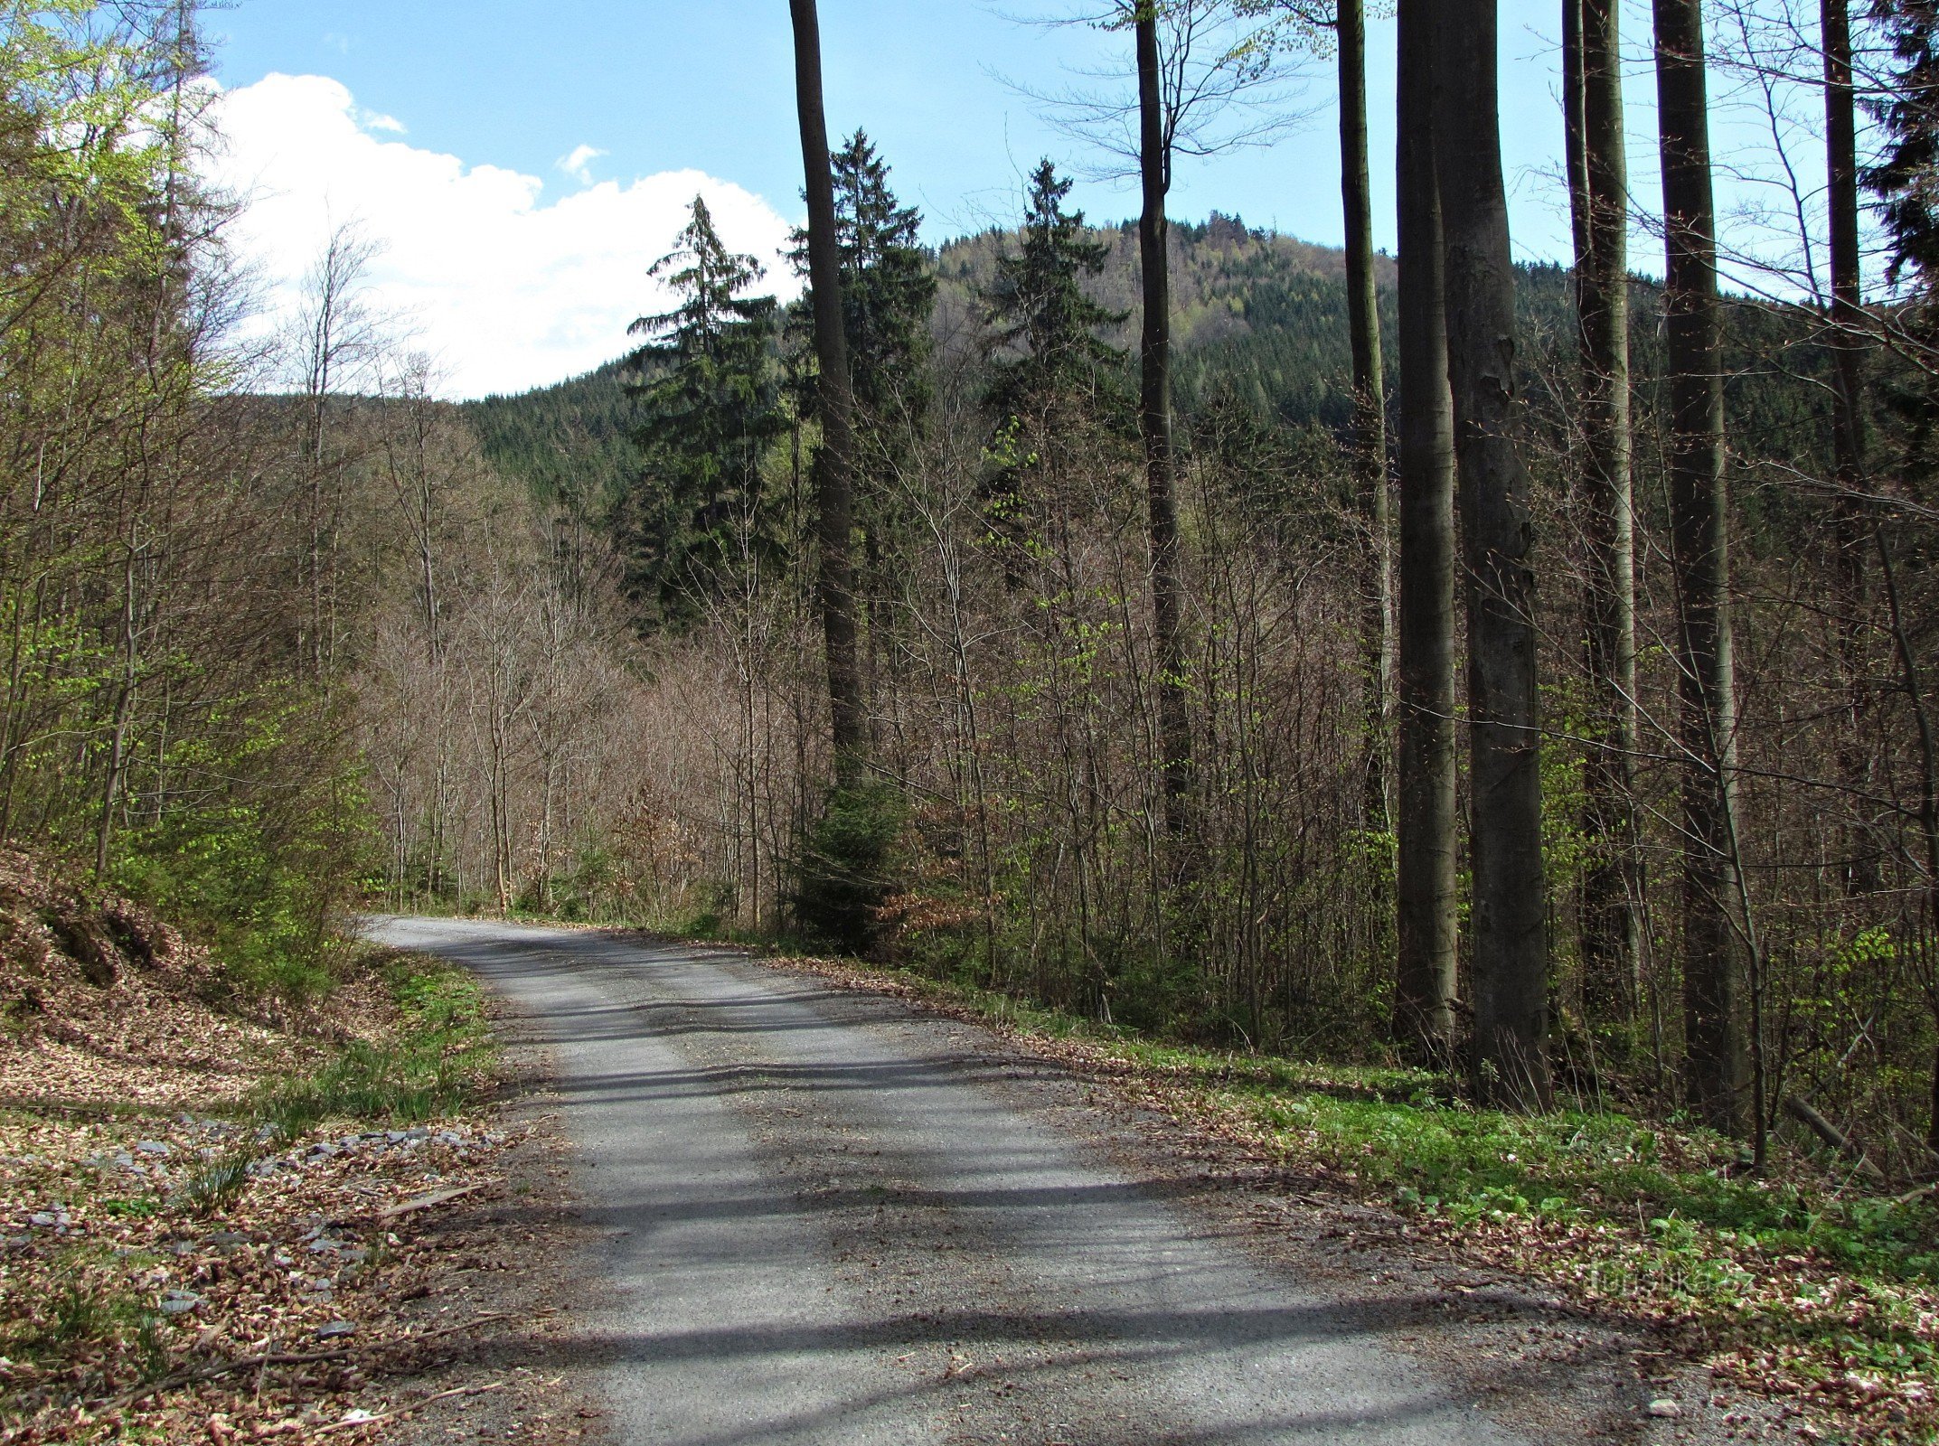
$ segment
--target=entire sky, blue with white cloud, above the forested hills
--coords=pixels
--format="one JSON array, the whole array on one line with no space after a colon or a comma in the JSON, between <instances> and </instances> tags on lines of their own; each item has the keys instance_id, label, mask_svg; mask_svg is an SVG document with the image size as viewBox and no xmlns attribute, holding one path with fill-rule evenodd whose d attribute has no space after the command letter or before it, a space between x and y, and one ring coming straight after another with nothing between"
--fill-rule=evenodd
<instances>
[{"instance_id":1,"label":"entire sky, blue with white cloud, above the forested hills","mask_svg":"<svg viewBox=\"0 0 1939 1446\"><path fill-rule=\"evenodd\" d=\"M1010 223L1039 155L1086 159L1006 83L1055 89L1070 68L1121 50L1123 37L1010 17L1072 2L822 0L830 132L874 136L931 240ZM1555 10L1501 0L1501 138L1524 260L1569 250ZM646 267L696 192L733 244L768 258L799 217L785 0L229 0L206 23L231 140L221 178L254 202L237 236L266 314L289 310L322 236L351 221L382 246L374 304L436 359L448 395L533 386L620 353L624 324L661 310ZM1640 0L1627 0L1627 33L1631 184L1648 207L1654 85L1637 45L1648 37ZM1384 248L1392 41L1392 19L1377 14L1369 81ZM1220 209L1338 244L1330 64L1309 70L1303 126L1270 149L1183 161L1175 217ZM1733 116L1720 107L1726 161L1755 151ZM1809 114L1801 124L1809 132ZM1136 196L1088 182L1078 204L1117 221ZM1654 250L1638 229L1633 264L1656 269ZM783 295L795 285L783 266L770 279Z\"/></svg>"}]
</instances>

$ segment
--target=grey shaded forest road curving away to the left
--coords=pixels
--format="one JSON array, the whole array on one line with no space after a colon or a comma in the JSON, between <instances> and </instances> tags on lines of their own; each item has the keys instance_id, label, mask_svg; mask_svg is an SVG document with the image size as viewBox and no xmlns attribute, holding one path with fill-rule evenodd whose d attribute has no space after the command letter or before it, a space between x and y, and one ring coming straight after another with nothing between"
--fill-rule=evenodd
<instances>
[{"instance_id":1,"label":"grey shaded forest road curving away to the left","mask_svg":"<svg viewBox=\"0 0 1939 1446\"><path fill-rule=\"evenodd\" d=\"M1534 1440L1140 1186L977 1031L710 950L372 932L555 1051L620 1442Z\"/></svg>"}]
</instances>

